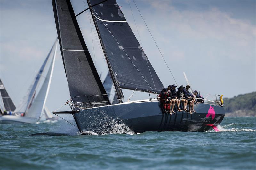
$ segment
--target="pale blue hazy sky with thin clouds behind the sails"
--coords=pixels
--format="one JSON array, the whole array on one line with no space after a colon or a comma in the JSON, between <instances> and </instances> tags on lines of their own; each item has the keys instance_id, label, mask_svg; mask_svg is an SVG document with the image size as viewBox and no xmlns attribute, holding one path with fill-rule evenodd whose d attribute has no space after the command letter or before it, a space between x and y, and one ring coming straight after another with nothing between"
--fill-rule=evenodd
<instances>
[{"instance_id":1,"label":"pale blue hazy sky with thin clouds behind the sails","mask_svg":"<svg viewBox=\"0 0 256 170\"><path fill-rule=\"evenodd\" d=\"M76 14L87 8L84 2L71 0ZM117 3L164 86L176 84L133 1ZM255 0L135 3L178 85L186 85L185 72L192 89L204 97L256 91ZM85 12L77 20L98 73L104 77L106 63L89 18ZM56 37L51 1L0 0L0 77L15 105L26 94ZM50 110L70 97L60 48L56 57L46 102ZM125 93L129 96L131 91Z\"/></svg>"}]
</instances>

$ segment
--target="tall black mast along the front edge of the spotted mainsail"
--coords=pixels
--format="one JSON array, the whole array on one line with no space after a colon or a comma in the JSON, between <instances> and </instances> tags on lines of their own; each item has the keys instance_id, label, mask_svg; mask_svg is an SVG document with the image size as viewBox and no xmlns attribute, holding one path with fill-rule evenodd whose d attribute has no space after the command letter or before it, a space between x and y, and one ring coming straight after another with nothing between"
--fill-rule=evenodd
<instances>
[{"instance_id":1,"label":"tall black mast along the front edge of the spotted mainsail","mask_svg":"<svg viewBox=\"0 0 256 170\"><path fill-rule=\"evenodd\" d=\"M102 47L105 59L106 59L107 64L108 64L108 70L109 70L109 73L110 73L110 77L111 77L111 79L113 81L114 87L115 87L115 91L116 91L116 95L117 95L117 98L118 98L118 102L122 103L123 102L122 98L124 98L122 90L119 88L118 82L117 82L116 77L115 77L114 72L113 72L113 69L112 69L112 67L111 67L111 65L109 63L109 60L108 60L108 57L107 57L107 53L106 53L106 50L105 50L105 46L104 46L104 44L102 42L98 26L96 24L96 20L95 20L94 15L93 15L92 5L91 5L89 0L87 0L87 3L88 3L88 6L89 6L91 15L92 15L93 23L94 23L94 25L96 27L96 31L97 31L99 39L100 39L100 44L101 44L101 47Z\"/></svg>"}]
</instances>

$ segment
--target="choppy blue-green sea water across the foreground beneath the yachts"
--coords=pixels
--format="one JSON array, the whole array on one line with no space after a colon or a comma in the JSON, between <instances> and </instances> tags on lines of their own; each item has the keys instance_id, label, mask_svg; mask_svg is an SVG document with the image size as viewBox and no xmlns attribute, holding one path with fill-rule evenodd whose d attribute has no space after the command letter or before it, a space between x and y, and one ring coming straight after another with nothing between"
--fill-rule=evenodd
<instances>
[{"instance_id":1,"label":"choppy blue-green sea water across the foreground beneath the yachts","mask_svg":"<svg viewBox=\"0 0 256 170\"><path fill-rule=\"evenodd\" d=\"M225 117L220 132L80 135L63 120L0 125L0 169L256 169L256 118ZM29 136L40 132L67 136ZM127 134L120 134L127 133Z\"/></svg>"}]
</instances>

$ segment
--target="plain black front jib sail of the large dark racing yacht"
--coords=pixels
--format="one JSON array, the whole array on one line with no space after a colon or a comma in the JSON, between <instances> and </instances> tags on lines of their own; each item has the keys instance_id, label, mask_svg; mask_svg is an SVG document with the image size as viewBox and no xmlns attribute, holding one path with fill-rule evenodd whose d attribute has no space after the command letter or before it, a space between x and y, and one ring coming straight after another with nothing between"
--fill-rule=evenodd
<instances>
[{"instance_id":1,"label":"plain black front jib sail of the large dark racing yacht","mask_svg":"<svg viewBox=\"0 0 256 170\"><path fill-rule=\"evenodd\" d=\"M71 98L77 102L108 101L70 0L52 0L52 5Z\"/></svg>"}]
</instances>

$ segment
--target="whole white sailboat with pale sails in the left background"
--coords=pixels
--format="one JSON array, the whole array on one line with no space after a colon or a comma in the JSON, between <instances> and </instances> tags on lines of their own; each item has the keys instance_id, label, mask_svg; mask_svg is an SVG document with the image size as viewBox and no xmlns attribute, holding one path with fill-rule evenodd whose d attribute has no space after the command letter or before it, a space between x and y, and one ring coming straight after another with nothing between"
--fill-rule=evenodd
<instances>
[{"instance_id":1,"label":"whole white sailboat with pale sails in the left background","mask_svg":"<svg viewBox=\"0 0 256 170\"><path fill-rule=\"evenodd\" d=\"M39 72L36 74L27 95L14 111L14 115L1 116L0 123L19 122L34 124L40 119L41 114L45 113L44 108L52 79L57 41L58 39L56 39Z\"/></svg>"}]
</instances>

